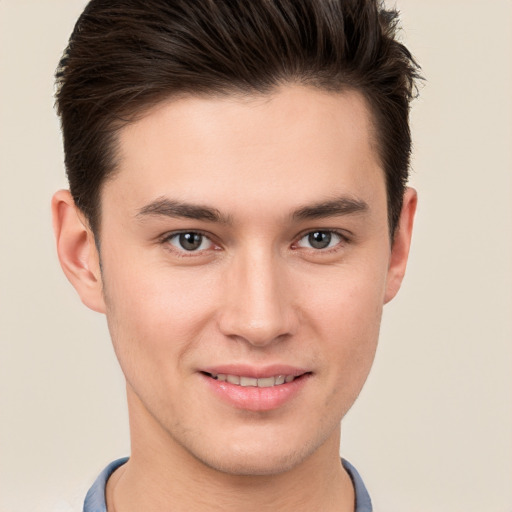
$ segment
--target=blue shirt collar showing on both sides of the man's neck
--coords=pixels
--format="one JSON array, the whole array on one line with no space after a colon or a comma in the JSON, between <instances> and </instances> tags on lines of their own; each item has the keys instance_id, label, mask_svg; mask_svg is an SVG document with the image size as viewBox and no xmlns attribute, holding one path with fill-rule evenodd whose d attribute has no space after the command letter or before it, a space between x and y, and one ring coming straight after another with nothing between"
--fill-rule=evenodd
<instances>
[{"instance_id":1,"label":"blue shirt collar showing on both sides of the man's neck","mask_svg":"<svg viewBox=\"0 0 512 512\"><path fill-rule=\"evenodd\" d=\"M107 480L110 475L127 460L128 457L115 460L100 473L85 497L84 512L107 512L107 505L105 503L105 488ZM343 467L347 470L347 473L350 475L354 485L356 495L356 509L354 512L372 512L370 496L356 468L344 459L342 459L341 462Z\"/></svg>"}]
</instances>

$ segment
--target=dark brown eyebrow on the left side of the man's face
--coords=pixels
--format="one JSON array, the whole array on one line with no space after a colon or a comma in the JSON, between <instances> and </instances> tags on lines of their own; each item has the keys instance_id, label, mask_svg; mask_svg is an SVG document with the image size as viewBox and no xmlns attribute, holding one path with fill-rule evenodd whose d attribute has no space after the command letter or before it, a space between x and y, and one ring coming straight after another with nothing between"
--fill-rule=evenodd
<instances>
[{"instance_id":1,"label":"dark brown eyebrow on the left side of the man's face","mask_svg":"<svg viewBox=\"0 0 512 512\"><path fill-rule=\"evenodd\" d=\"M216 208L184 203L165 197L159 197L155 201L143 206L136 215L139 219L147 216L194 219L220 224L229 224L231 222L229 217L222 215Z\"/></svg>"}]
</instances>

